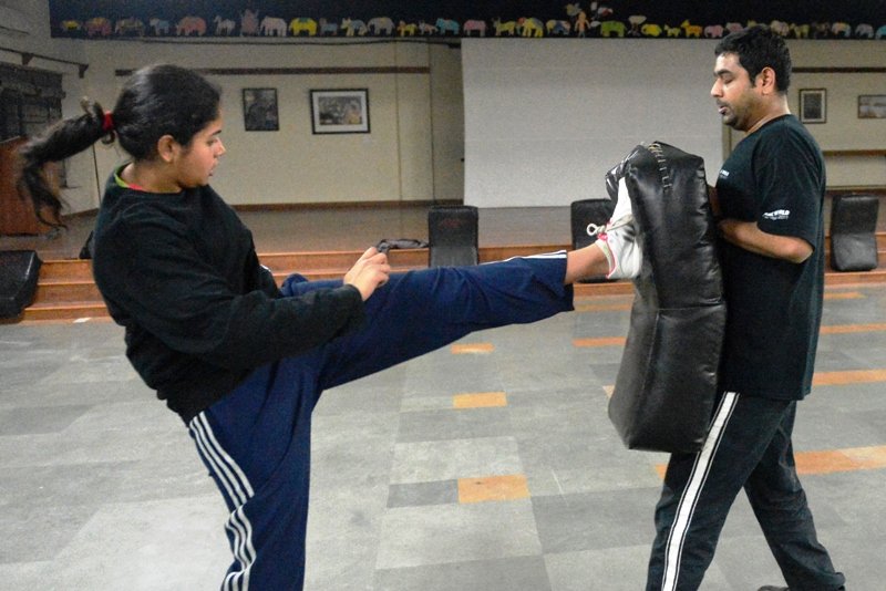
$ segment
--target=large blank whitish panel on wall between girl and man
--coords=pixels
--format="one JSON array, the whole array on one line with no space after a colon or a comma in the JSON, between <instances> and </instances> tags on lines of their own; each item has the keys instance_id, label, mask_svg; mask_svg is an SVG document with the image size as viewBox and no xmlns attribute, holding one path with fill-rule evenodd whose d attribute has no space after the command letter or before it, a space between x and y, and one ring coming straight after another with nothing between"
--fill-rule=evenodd
<instances>
[{"instance_id":1,"label":"large blank whitish panel on wall between girl and man","mask_svg":"<svg viewBox=\"0 0 886 591\"><path fill-rule=\"evenodd\" d=\"M719 169L710 40L472 39L462 52L470 205L606 198L607 170L652 141Z\"/></svg>"}]
</instances>

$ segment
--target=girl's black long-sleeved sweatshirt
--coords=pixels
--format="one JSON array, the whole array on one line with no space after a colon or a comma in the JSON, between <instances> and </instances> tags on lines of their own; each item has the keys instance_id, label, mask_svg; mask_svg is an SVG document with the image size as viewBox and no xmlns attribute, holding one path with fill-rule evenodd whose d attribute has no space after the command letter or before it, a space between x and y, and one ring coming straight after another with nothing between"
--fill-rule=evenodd
<instances>
[{"instance_id":1,"label":"girl's black long-sleeved sweatshirt","mask_svg":"<svg viewBox=\"0 0 886 591\"><path fill-rule=\"evenodd\" d=\"M135 370L185 423L255 367L359 326L360 292L343 286L282 298L253 235L210 187L105 189L93 274L126 329Z\"/></svg>"}]
</instances>

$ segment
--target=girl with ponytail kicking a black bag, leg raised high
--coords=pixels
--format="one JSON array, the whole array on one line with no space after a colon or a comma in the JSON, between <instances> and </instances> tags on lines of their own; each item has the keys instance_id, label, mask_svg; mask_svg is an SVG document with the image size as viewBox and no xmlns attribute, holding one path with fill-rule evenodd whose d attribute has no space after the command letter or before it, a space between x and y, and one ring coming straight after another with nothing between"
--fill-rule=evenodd
<instances>
[{"instance_id":1,"label":"girl with ponytail kicking a black bag, leg raised high","mask_svg":"<svg viewBox=\"0 0 886 591\"><path fill-rule=\"evenodd\" d=\"M391 273L370 248L342 280L295 274L279 288L209 186L225 153L218 89L153 65L125 83L113 112L85 111L23 147L20 186L58 219L45 163L99 139L132 157L107 180L93 273L132 365L185 422L230 510L223 589L302 588L311 412L323 390L475 330L571 310L584 277L639 270L622 198L580 250Z\"/></svg>"}]
</instances>

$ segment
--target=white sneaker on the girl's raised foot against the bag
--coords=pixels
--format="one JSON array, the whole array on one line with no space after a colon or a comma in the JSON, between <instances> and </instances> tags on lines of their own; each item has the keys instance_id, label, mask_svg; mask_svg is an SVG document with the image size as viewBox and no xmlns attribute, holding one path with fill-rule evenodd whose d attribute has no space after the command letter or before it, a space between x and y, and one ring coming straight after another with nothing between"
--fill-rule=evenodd
<instances>
[{"instance_id":1,"label":"white sneaker on the girl's raised foot against the bag","mask_svg":"<svg viewBox=\"0 0 886 591\"><path fill-rule=\"evenodd\" d=\"M588 234L597 235L594 243L609 262L607 279L633 279L640 274L643 256L637 243L637 227L624 177L618 179L618 200L609 222L601 228L589 225Z\"/></svg>"}]
</instances>

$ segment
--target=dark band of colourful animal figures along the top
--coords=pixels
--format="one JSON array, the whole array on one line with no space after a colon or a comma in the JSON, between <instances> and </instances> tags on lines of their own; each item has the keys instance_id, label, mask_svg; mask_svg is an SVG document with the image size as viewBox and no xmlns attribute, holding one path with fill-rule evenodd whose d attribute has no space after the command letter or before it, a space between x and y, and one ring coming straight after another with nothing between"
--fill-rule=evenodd
<instances>
[{"instance_id":1,"label":"dark band of colourful animal figures along the top","mask_svg":"<svg viewBox=\"0 0 886 591\"><path fill-rule=\"evenodd\" d=\"M501 2L466 3L462 15L434 14L433 3L352 2L353 14L305 14L297 0L217 0L213 13L200 13L207 2L182 0L156 3L155 9L124 8L111 0L50 0L53 37L109 38L680 38L713 39L740 30L771 14L762 22L785 37L796 39L886 39L886 14L878 2L832 2L816 8L801 0L745 2L730 8L729 18L717 9L700 13L689 0L507 2L499 13L490 13ZM140 6L150 6L150 2ZM398 6L392 6L398 4ZM662 6L664 4L664 6ZM758 6L761 4L761 6ZM868 8L865 9L864 6ZM390 15L372 14L372 7L390 9ZM163 8L169 7L169 8ZM762 7L762 8L761 8ZM800 8L799 8L800 7ZM457 10L456 8L453 10ZM749 18L735 18L736 10ZM821 13L815 13L815 11ZM822 11L828 11L824 13ZM507 13L507 11L519 11ZM486 13L484 13L486 12ZM424 13L424 15L422 15ZM722 9L721 13L725 13ZM360 15L363 14L363 15ZM801 21L802 22L797 22Z\"/></svg>"}]
</instances>

